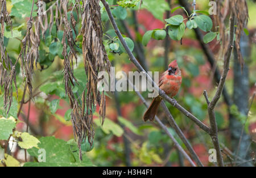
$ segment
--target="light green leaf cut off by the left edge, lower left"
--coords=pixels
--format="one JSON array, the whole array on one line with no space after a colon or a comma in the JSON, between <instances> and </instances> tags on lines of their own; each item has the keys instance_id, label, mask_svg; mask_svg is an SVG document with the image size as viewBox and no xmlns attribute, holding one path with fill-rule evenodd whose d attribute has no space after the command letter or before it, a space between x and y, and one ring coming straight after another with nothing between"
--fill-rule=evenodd
<instances>
[{"instance_id":1,"label":"light green leaf cut off by the left edge, lower left","mask_svg":"<svg viewBox=\"0 0 256 178\"><path fill-rule=\"evenodd\" d=\"M15 126L16 124L13 120L0 118L0 140L7 140L10 134L13 133Z\"/></svg>"}]
</instances>

